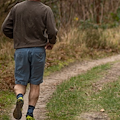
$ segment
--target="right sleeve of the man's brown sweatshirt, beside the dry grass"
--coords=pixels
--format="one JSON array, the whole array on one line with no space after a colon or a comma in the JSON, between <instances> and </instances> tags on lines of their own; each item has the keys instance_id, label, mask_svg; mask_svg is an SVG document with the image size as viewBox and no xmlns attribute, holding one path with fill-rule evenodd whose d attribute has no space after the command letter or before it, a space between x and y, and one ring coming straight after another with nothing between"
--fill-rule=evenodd
<instances>
[{"instance_id":1,"label":"right sleeve of the man's brown sweatshirt, beside the dry grass","mask_svg":"<svg viewBox=\"0 0 120 120\"><path fill-rule=\"evenodd\" d=\"M57 29L55 25L54 15L50 7L48 7L46 15L46 29L48 34L49 43L56 43Z\"/></svg>"}]
</instances>

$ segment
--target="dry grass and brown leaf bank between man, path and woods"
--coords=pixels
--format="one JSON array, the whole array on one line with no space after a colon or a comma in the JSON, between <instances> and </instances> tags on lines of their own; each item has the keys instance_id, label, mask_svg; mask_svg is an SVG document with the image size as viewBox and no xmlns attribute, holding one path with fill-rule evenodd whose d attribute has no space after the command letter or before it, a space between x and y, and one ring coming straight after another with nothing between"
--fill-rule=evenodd
<instances>
[{"instance_id":1,"label":"dry grass and brown leaf bank between man, path and woods","mask_svg":"<svg viewBox=\"0 0 120 120\"><path fill-rule=\"evenodd\" d=\"M71 28L67 32L59 30L58 42L47 54L47 67L60 61L95 59L120 51L120 30Z\"/></svg>"}]
</instances>

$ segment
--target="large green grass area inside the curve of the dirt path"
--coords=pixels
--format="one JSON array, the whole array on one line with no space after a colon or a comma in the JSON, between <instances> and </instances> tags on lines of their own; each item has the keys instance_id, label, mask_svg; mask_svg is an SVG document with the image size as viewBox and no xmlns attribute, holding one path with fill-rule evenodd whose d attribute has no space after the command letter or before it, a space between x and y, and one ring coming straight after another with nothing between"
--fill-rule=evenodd
<instances>
[{"instance_id":1,"label":"large green grass area inside the curve of the dirt path","mask_svg":"<svg viewBox=\"0 0 120 120\"><path fill-rule=\"evenodd\" d=\"M110 64L95 67L58 86L47 104L49 119L74 120L81 113L99 112L101 109L105 109L111 120L120 119L120 81L109 83L98 92L93 87L93 83L98 81L110 67Z\"/></svg>"}]
</instances>

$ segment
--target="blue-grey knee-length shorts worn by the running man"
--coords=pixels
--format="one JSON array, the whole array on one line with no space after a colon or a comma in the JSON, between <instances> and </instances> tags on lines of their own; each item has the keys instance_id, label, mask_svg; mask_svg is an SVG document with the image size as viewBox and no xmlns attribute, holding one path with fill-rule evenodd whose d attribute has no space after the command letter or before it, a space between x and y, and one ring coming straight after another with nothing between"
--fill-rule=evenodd
<instances>
[{"instance_id":1,"label":"blue-grey knee-length shorts worn by the running man","mask_svg":"<svg viewBox=\"0 0 120 120\"><path fill-rule=\"evenodd\" d=\"M44 47L20 48L15 51L15 84L39 85L43 82L46 52Z\"/></svg>"}]
</instances>

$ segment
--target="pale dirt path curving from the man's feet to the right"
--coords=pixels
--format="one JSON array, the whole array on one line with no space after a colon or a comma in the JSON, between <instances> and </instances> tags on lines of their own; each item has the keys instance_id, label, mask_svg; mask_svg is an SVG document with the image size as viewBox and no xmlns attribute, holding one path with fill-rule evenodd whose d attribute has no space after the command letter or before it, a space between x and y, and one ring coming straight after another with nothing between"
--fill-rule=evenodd
<instances>
[{"instance_id":1,"label":"pale dirt path curving from the man's feet to the right","mask_svg":"<svg viewBox=\"0 0 120 120\"><path fill-rule=\"evenodd\" d=\"M66 67L65 69L61 70L60 72L56 72L56 73L50 75L49 77L44 78L44 83L41 84L40 97L39 97L39 100L38 100L38 103L37 103L37 106L36 106L36 109L34 112L34 116L35 116L36 120L45 120L47 118L45 116L45 114L47 112L45 109L46 103L49 100L49 98L51 97L51 95L53 94L53 92L55 91L57 85L59 85L61 82L65 81L73 76L82 74L95 66L105 64L108 62L114 62L114 61L120 61L120 55L116 55L116 56L112 56L112 57L104 58L104 59L99 59L99 60L92 60L89 62L76 63L69 67ZM116 67L119 69L118 65L116 65ZM116 69L116 67L115 67L115 69ZM115 69L113 71L115 71ZM115 73L116 72L113 72L113 76ZM120 75L120 69L119 69L119 72L117 72L117 74ZM104 79L103 79L103 81L105 81ZM96 83L96 84L100 85L100 83ZM101 86L99 86L99 87L101 87ZM25 104L23 107L23 117L21 120L25 120L25 114L26 114L27 106L28 106L27 105L28 92L29 92L29 90L27 91L26 95L24 96ZM11 116L12 116L12 113L11 113ZM14 118L12 118L11 120L14 120Z\"/></svg>"}]
</instances>

